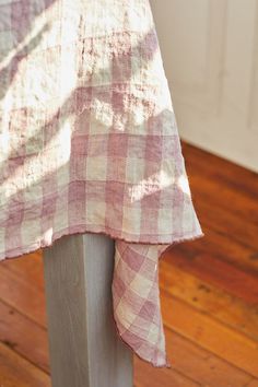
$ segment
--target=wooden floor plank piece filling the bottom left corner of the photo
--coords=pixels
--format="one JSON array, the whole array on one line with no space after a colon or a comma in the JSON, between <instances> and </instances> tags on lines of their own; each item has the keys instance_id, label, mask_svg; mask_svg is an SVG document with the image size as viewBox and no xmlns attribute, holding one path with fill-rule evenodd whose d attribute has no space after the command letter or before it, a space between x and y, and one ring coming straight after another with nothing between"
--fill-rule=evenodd
<instances>
[{"instance_id":1,"label":"wooden floor plank piece filling the bottom left corner of the photo","mask_svg":"<svg viewBox=\"0 0 258 387\"><path fill-rule=\"evenodd\" d=\"M50 387L50 377L0 342L1 387Z\"/></svg>"}]
</instances>

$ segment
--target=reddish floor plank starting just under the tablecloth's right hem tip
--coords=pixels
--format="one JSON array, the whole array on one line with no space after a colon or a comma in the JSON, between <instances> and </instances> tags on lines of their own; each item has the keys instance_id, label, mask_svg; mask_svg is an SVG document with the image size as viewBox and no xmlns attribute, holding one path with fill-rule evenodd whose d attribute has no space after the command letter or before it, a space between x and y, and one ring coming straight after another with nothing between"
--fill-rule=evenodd
<instances>
[{"instance_id":1,"label":"reddish floor plank starting just under the tablecloth's right hem tip","mask_svg":"<svg viewBox=\"0 0 258 387\"><path fill-rule=\"evenodd\" d=\"M250 305L258 303L257 275L244 272L212 254L200 254L192 258L173 247L162 257L173 267L179 267L202 281L209 282ZM172 270L173 270L172 267Z\"/></svg>"}]
</instances>

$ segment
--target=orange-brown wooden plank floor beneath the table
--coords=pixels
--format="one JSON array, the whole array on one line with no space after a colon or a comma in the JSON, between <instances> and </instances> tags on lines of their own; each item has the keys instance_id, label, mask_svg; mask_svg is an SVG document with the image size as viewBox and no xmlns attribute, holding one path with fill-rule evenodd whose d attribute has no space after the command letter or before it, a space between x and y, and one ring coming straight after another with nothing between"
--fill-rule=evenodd
<instances>
[{"instance_id":1,"label":"orange-brown wooden plank floor beneath the table","mask_svg":"<svg viewBox=\"0 0 258 387\"><path fill-rule=\"evenodd\" d=\"M258 178L181 145L206 236L160 262L173 368L134 356L134 385L258 387ZM0 263L0 386L50 386L42 250Z\"/></svg>"}]
</instances>

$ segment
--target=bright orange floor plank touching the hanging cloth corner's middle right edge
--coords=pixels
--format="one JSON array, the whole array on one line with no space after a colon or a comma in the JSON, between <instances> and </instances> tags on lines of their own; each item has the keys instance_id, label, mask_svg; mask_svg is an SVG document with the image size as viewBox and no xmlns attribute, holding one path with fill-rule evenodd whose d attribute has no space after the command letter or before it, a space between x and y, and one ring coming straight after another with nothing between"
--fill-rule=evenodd
<instances>
[{"instance_id":1,"label":"bright orange floor plank touching the hanging cloth corner's middle right edge","mask_svg":"<svg viewBox=\"0 0 258 387\"><path fill-rule=\"evenodd\" d=\"M185 338L258 377L258 345L161 289L164 324ZM188 316L188 318L186 318Z\"/></svg>"}]
</instances>

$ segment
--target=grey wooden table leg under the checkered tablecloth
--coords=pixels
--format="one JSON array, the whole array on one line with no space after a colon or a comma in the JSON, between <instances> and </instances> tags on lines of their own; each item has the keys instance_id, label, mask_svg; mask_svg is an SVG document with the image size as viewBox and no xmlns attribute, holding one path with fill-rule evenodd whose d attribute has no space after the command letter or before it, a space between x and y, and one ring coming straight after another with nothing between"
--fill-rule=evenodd
<instances>
[{"instance_id":1,"label":"grey wooden table leg under the checkered tablecloth","mask_svg":"<svg viewBox=\"0 0 258 387\"><path fill-rule=\"evenodd\" d=\"M132 387L132 352L113 319L114 253L114 239L92 233L43 250L52 387Z\"/></svg>"}]
</instances>

